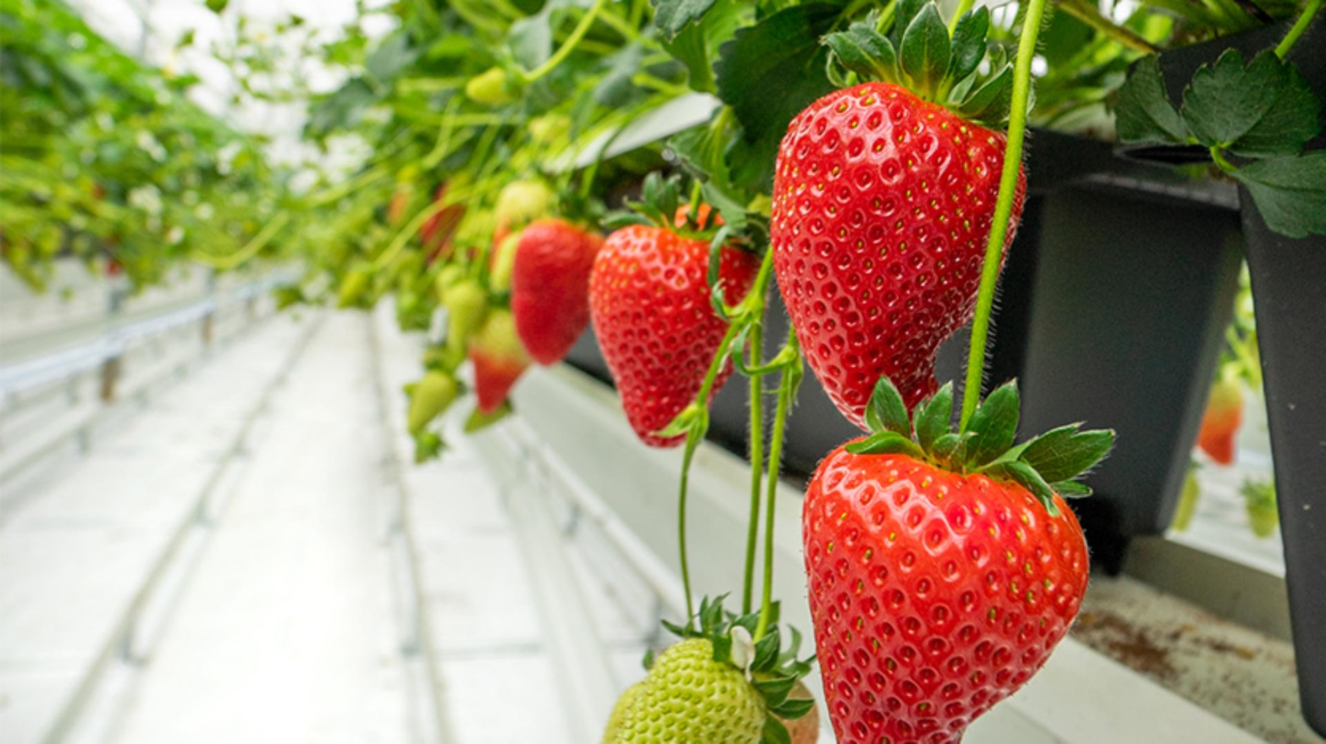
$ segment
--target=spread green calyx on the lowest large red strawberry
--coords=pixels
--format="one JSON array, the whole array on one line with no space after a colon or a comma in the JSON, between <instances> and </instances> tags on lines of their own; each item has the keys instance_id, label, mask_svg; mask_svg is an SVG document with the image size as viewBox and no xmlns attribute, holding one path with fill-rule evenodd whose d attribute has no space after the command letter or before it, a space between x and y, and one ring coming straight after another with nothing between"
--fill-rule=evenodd
<instances>
[{"instance_id":1,"label":"spread green calyx on the lowest large red strawberry","mask_svg":"<svg viewBox=\"0 0 1326 744\"><path fill-rule=\"evenodd\" d=\"M903 397L887 375L875 383L866 406L870 434L846 446L855 455L908 455L960 475L981 473L1013 481L1032 492L1052 516L1054 495L1090 496L1078 479L1114 447L1114 430L1079 431L1082 423L1052 428L1021 444L1017 436L1017 382L998 386L980 403L965 430L952 428L953 383L916 404L908 416Z\"/></svg>"}]
</instances>

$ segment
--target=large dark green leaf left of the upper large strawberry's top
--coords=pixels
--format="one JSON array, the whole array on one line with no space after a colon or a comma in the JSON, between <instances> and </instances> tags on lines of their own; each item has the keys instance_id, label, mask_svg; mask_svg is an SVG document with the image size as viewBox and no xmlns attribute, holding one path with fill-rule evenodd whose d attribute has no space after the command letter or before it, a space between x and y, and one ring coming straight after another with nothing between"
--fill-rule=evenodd
<instances>
[{"instance_id":1,"label":"large dark green leaf left of the upper large strawberry's top","mask_svg":"<svg viewBox=\"0 0 1326 744\"><path fill-rule=\"evenodd\" d=\"M741 122L749 159L773 163L792 117L833 90L825 74L829 48L819 37L833 31L841 11L833 3L785 8L737 29L720 48L719 97Z\"/></svg>"}]
</instances>

